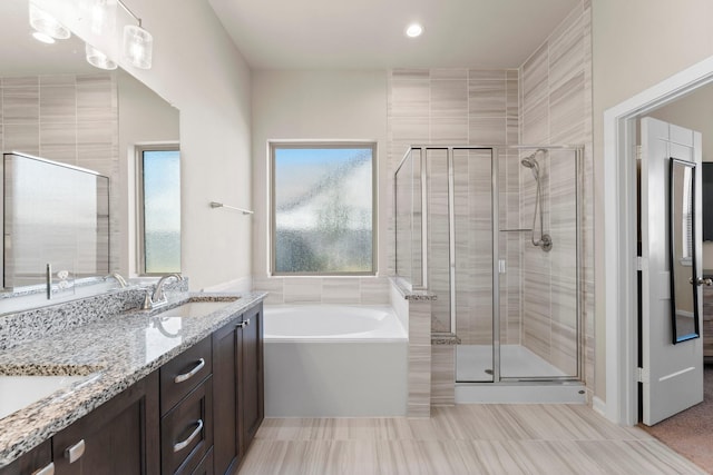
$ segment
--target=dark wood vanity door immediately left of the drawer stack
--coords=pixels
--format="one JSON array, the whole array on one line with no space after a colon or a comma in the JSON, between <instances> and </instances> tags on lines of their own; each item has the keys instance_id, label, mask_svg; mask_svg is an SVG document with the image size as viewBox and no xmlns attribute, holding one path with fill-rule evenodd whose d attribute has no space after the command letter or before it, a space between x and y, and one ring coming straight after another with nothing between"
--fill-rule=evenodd
<instances>
[{"instance_id":1,"label":"dark wood vanity door immediately left of the drawer stack","mask_svg":"<svg viewBox=\"0 0 713 475\"><path fill-rule=\"evenodd\" d=\"M52 437L56 474L157 475L158 419L152 373Z\"/></svg>"}]
</instances>

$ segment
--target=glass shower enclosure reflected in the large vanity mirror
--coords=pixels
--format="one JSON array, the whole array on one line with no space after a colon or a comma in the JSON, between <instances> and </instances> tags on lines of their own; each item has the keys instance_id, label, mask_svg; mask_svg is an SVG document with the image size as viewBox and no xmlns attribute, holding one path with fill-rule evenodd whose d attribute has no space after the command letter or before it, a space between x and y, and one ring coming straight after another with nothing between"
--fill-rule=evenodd
<instances>
[{"instance_id":1,"label":"glass shower enclosure reflected in the large vanity mirror","mask_svg":"<svg viewBox=\"0 0 713 475\"><path fill-rule=\"evenodd\" d=\"M19 152L2 160L6 289L109 273L109 178Z\"/></svg>"}]
</instances>

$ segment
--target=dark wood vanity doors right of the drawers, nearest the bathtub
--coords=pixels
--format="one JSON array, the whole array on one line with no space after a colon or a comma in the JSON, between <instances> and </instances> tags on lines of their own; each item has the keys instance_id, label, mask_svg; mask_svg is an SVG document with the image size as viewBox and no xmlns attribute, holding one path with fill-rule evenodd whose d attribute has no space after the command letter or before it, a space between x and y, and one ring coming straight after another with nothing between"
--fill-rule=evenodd
<instances>
[{"instance_id":1,"label":"dark wood vanity doors right of the drawers, nearest the bathtub","mask_svg":"<svg viewBox=\"0 0 713 475\"><path fill-rule=\"evenodd\" d=\"M262 304L213 334L214 466L233 474L264 418Z\"/></svg>"}]
</instances>

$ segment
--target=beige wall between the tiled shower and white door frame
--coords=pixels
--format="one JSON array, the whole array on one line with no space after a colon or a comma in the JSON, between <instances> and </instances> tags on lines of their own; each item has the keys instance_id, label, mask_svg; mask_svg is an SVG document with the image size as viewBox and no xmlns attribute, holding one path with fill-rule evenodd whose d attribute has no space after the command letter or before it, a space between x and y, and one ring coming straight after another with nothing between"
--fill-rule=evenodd
<instances>
[{"instance_id":1,"label":"beige wall between the tiled shower and white door frame","mask_svg":"<svg viewBox=\"0 0 713 475\"><path fill-rule=\"evenodd\" d=\"M593 110L595 152L595 256L603 256L604 111L713 55L713 2L710 0L594 0ZM595 261L595 286L604 288L604 261ZM595 394L604 399L605 300L596 294ZM631 316L634 318L634 316Z\"/></svg>"}]
</instances>

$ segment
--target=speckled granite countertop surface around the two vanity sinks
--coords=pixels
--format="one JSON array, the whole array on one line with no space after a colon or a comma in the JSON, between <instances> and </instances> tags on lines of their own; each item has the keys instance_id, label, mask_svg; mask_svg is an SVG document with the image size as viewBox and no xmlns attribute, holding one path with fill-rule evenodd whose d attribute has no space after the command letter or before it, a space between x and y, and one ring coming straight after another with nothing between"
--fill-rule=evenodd
<instances>
[{"instance_id":1,"label":"speckled granite countertop surface around the two vanity sinks","mask_svg":"<svg viewBox=\"0 0 713 475\"><path fill-rule=\"evenodd\" d=\"M1 352L0 375L86 377L0 418L0 467L207 337L265 295L183 293L162 308L108 316ZM187 301L227 304L199 317L165 314Z\"/></svg>"}]
</instances>

